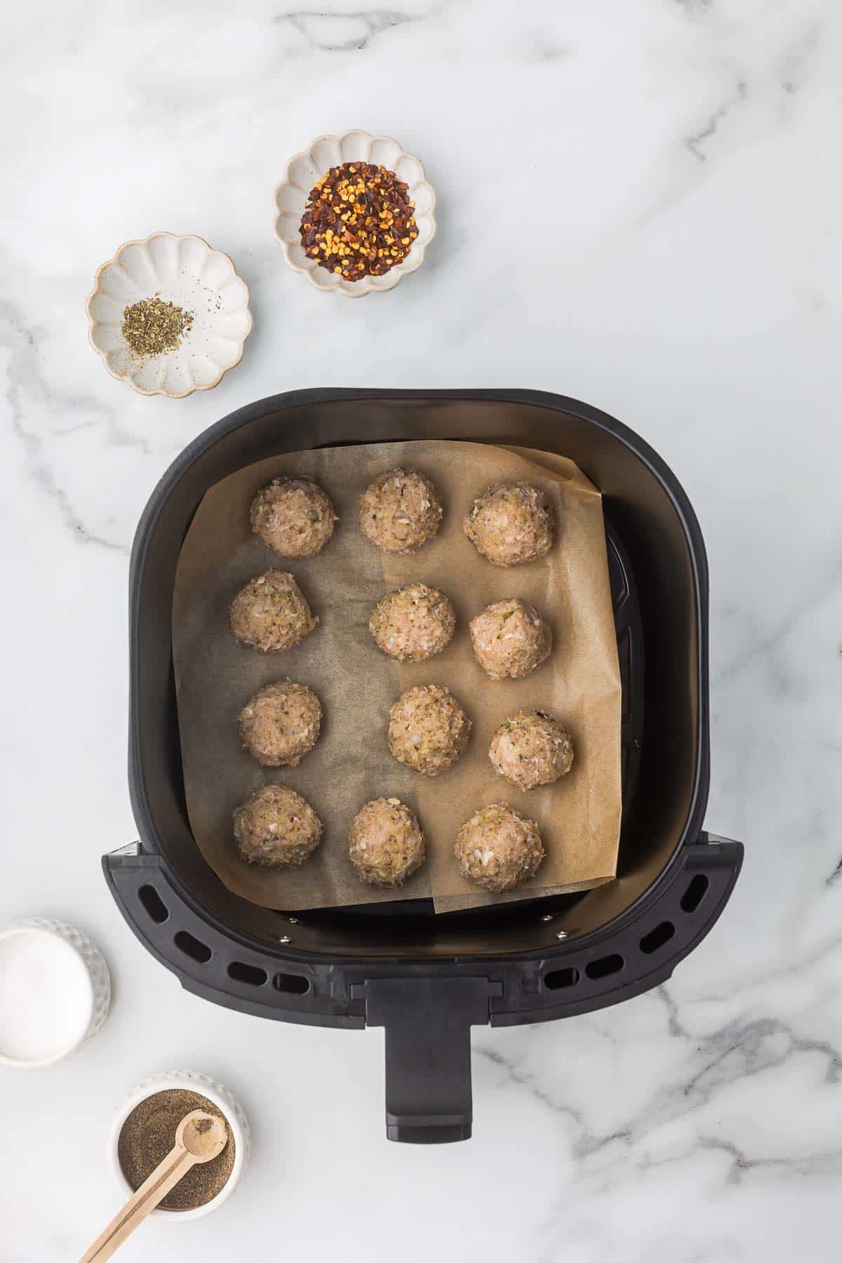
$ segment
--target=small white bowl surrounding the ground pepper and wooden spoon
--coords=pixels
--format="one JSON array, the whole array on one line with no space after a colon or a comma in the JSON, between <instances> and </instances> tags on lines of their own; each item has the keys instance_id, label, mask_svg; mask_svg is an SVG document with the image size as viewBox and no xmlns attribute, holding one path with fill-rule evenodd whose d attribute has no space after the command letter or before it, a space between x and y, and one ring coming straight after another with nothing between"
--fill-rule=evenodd
<instances>
[{"instance_id":1,"label":"small white bowl surrounding the ground pepper and wooden spoon","mask_svg":"<svg viewBox=\"0 0 842 1263\"><path fill-rule=\"evenodd\" d=\"M148 1096L154 1096L157 1092L179 1090L186 1092L198 1092L199 1096L206 1096L210 1101L213 1101L217 1109L222 1110L228 1127L231 1128L231 1135L234 1137L236 1152L234 1156L234 1167L231 1168L231 1175L228 1176L225 1186L220 1188L216 1197L211 1197L211 1200L206 1201L203 1206L194 1206L193 1210L162 1210L160 1206L157 1206L155 1210L153 1210L153 1215L157 1215L159 1219L174 1219L178 1221L187 1219L202 1219L203 1215L210 1215L212 1211L218 1210L222 1202L227 1201L240 1183L242 1171L249 1159L249 1154L251 1153L251 1129L249 1127L249 1119L246 1118L240 1103L231 1095L227 1087L223 1087L222 1084L216 1081L216 1079L211 1079L208 1075L202 1075L194 1070L170 1070L164 1075L155 1075L154 1079L144 1079L131 1089L115 1114L111 1135L109 1138L109 1157L111 1167L117 1177L120 1188L127 1197L131 1196L134 1188L122 1173L117 1152L122 1124L129 1118L129 1114L131 1114L135 1105L146 1100Z\"/></svg>"}]
</instances>

